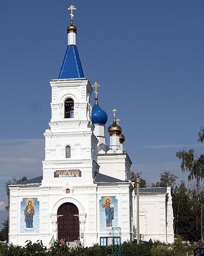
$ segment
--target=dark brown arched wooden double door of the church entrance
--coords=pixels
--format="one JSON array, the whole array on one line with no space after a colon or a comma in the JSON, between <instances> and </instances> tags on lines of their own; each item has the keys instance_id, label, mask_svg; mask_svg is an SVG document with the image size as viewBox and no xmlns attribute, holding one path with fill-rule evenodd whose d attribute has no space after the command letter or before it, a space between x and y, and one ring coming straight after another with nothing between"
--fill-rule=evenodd
<instances>
[{"instance_id":1,"label":"dark brown arched wooden double door of the church entrance","mask_svg":"<svg viewBox=\"0 0 204 256\"><path fill-rule=\"evenodd\" d=\"M57 211L57 238L73 242L79 237L79 210L71 202L62 204Z\"/></svg>"}]
</instances>

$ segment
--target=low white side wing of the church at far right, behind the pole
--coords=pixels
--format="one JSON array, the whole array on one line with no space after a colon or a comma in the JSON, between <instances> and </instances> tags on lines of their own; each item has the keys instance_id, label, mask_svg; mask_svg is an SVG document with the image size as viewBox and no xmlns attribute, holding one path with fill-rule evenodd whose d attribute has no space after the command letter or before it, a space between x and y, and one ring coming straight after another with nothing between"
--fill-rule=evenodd
<instances>
[{"instance_id":1,"label":"low white side wing of the church at far right, behind the pole","mask_svg":"<svg viewBox=\"0 0 204 256\"><path fill-rule=\"evenodd\" d=\"M140 189L140 234L145 241L173 243L171 188ZM134 223L137 223L137 197L134 200ZM136 233L134 233L136 236Z\"/></svg>"}]
</instances>

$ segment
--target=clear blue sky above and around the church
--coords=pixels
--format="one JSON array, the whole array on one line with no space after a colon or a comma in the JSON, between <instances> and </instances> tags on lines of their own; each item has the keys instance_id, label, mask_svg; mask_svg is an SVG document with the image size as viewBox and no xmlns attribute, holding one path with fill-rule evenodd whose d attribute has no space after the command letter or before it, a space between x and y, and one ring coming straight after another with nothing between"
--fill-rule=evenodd
<instances>
[{"instance_id":1,"label":"clear blue sky above and around the church","mask_svg":"<svg viewBox=\"0 0 204 256\"><path fill-rule=\"evenodd\" d=\"M41 175L43 132L51 118L49 81L67 45L67 7L77 7L83 73L97 81L99 104L116 108L132 170L156 182L164 170L183 179L178 150L202 154L203 0L4 0L0 8L0 209L4 182ZM92 103L94 94L92 95ZM107 135L107 142L109 138ZM0 222L5 212L0 210Z\"/></svg>"}]
</instances>

